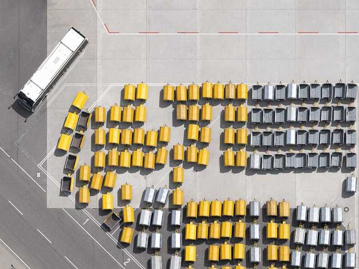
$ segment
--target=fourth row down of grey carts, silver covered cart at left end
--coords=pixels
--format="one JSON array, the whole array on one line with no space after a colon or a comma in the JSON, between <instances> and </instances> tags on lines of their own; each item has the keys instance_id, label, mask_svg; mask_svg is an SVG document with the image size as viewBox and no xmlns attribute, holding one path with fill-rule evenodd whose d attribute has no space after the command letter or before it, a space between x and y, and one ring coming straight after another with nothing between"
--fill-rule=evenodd
<instances>
[{"instance_id":1,"label":"fourth row down of grey carts, silver covered cart at left end","mask_svg":"<svg viewBox=\"0 0 359 269\"><path fill-rule=\"evenodd\" d=\"M253 170L283 170L297 168L341 168L345 158L345 167L347 169L356 168L356 153L348 152L287 152L285 154L277 153L250 155L249 168Z\"/></svg>"}]
</instances>

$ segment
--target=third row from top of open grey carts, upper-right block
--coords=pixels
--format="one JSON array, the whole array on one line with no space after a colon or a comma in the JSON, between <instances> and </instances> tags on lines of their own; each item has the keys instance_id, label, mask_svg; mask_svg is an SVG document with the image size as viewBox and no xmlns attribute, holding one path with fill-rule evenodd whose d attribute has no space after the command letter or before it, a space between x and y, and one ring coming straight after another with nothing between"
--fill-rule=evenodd
<instances>
[{"instance_id":1,"label":"third row from top of open grey carts, upper-right block","mask_svg":"<svg viewBox=\"0 0 359 269\"><path fill-rule=\"evenodd\" d=\"M356 130L354 129L297 129L283 131L252 131L251 147L284 147L284 146L318 146L320 144L356 144Z\"/></svg>"}]
</instances>

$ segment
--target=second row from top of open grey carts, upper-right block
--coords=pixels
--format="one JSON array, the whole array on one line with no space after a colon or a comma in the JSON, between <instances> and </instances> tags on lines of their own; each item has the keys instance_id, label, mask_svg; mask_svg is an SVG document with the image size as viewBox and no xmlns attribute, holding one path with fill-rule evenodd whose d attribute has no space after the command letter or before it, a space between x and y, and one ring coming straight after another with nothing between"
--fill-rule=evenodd
<instances>
[{"instance_id":1,"label":"second row from top of open grey carts, upper-right block","mask_svg":"<svg viewBox=\"0 0 359 269\"><path fill-rule=\"evenodd\" d=\"M285 122L354 122L356 121L356 107L323 106L323 107L295 107L286 108L252 108L252 123L285 123Z\"/></svg>"}]
</instances>

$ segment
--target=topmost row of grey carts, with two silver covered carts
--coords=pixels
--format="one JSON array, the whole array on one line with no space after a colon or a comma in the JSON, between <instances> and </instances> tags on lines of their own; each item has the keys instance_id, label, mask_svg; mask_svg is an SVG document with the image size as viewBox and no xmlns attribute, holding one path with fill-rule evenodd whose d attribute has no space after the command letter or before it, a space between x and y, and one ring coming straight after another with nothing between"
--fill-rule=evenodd
<instances>
[{"instance_id":1,"label":"topmost row of grey carts, with two silver covered carts","mask_svg":"<svg viewBox=\"0 0 359 269\"><path fill-rule=\"evenodd\" d=\"M253 85L252 100L286 100L286 99L321 99L321 98L339 98L339 99L355 99L357 92L357 85L354 83L345 84L338 82L331 84L329 82L324 84L296 84L290 83L288 85Z\"/></svg>"}]
</instances>

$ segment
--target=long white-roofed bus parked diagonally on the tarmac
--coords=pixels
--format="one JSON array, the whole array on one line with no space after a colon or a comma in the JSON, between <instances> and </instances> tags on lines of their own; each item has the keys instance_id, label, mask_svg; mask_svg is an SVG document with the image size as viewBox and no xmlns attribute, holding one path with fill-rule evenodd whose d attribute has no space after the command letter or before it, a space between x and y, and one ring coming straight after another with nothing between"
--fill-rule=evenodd
<instances>
[{"instance_id":1,"label":"long white-roofed bus parked diagonally on the tarmac","mask_svg":"<svg viewBox=\"0 0 359 269\"><path fill-rule=\"evenodd\" d=\"M33 112L88 42L84 35L71 27L24 87L15 95L17 101Z\"/></svg>"}]
</instances>

